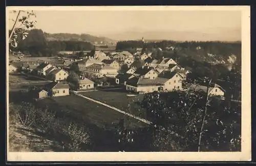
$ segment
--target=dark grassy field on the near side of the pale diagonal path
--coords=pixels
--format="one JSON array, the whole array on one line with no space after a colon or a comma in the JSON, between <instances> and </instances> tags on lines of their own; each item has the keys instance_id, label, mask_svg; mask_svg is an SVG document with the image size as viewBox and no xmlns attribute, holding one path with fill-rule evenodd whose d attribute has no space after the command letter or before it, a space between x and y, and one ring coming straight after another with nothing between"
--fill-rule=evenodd
<instances>
[{"instance_id":1,"label":"dark grassy field on the near side of the pale diagonal path","mask_svg":"<svg viewBox=\"0 0 256 166\"><path fill-rule=\"evenodd\" d=\"M74 95L44 99L40 103L42 105L58 107L58 109L65 111L65 114L70 115L70 117L74 119L80 118L83 122L96 125L99 128L111 129L114 127L113 124L117 124L120 118L125 118L126 116L108 107ZM131 126L143 127L145 124L131 118Z\"/></svg>"}]
</instances>

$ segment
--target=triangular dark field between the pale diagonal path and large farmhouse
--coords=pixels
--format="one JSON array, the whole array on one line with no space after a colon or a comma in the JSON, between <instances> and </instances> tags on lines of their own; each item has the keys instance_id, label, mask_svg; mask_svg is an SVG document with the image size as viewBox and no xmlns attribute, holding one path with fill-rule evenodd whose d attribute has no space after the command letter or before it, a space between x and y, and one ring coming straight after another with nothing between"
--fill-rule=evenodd
<instances>
[{"instance_id":1,"label":"triangular dark field between the pale diagonal path and large farmhouse","mask_svg":"<svg viewBox=\"0 0 256 166\"><path fill-rule=\"evenodd\" d=\"M98 100L100 102L109 104L119 108L125 112L134 114L145 118L145 111L140 107L140 102L143 99L143 94L136 94L136 96L127 96L124 90L98 90L81 92L83 96ZM130 109L129 106L130 105Z\"/></svg>"}]
</instances>

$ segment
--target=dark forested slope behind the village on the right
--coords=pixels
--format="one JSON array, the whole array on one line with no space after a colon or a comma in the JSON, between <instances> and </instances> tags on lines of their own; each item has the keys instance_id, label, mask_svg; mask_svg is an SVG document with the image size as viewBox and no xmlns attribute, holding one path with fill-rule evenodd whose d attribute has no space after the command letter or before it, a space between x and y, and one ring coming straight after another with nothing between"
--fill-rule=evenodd
<instances>
[{"instance_id":1,"label":"dark forested slope behind the village on the right","mask_svg":"<svg viewBox=\"0 0 256 166\"><path fill-rule=\"evenodd\" d=\"M163 40L157 42L142 41L119 41L117 50L131 50L144 48L144 50L155 51L155 56L174 58L190 57L199 62L212 64L241 63L241 42L221 42L221 41L185 41L176 42ZM162 52L157 54L156 48L161 48Z\"/></svg>"}]
</instances>

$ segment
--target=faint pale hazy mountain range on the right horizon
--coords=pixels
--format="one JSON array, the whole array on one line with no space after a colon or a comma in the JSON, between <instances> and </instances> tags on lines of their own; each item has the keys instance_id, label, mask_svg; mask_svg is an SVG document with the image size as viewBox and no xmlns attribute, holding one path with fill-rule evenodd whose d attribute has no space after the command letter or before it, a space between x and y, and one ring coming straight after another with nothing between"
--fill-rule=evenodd
<instances>
[{"instance_id":1,"label":"faint pale hazy mountain range on the right horizon","mask_svg":"<svg viewBox=\"0 0 256 166\"><path fill-rule=\"evenodd\" d=\"M101 34L114 40L175 40L175 41L241 41L241 30L224 29L202 33L200 31L126 31Z\"/></svg>"}]
</instances>

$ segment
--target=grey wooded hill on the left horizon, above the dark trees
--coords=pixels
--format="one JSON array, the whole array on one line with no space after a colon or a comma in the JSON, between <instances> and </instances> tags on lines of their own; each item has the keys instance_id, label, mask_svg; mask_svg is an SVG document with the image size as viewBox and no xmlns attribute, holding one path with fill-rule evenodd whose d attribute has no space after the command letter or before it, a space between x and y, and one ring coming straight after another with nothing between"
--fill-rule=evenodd
<instances>
[{"instance_id":1,"label":"grey wooded hill on the left horizon, above the dark trees","mask_svg":"<svg viewBox=\"0 0 256 166\"><path fill-rule=\"evenodd\" d=\"M88 41L91 43L98 44L108 44L114 43L115 40L112 40L108 37L97 37L89 34L71 34L71 33L45 33L45 37L48 41L52 40L75 40L75 41Z\"/></svg>"}]
</instances>

